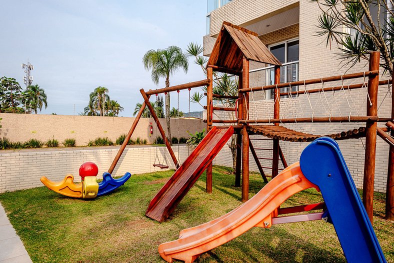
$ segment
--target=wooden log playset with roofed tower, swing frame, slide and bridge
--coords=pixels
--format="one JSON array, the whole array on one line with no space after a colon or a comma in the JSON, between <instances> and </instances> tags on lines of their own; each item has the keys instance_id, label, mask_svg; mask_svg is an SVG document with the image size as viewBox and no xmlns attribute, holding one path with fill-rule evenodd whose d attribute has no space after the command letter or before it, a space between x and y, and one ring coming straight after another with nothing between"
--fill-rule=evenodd
<instances>
[{"instance_id":1,"label":"wooden log playset with roofed tower, swing frame, slide and bridge","mask_svg":"<svg viewBox=\"0 0 394 263\"><path fill-rule=\"evenodd\" d=\"M249 62L256 61L260 63L266 63L274 65L274 83L264 86L249 86ZM165 88L159 88L149 91L140 89L140 93L143 97L143 103L139 109L134 122L131 125L130 130L127 133L126 138L123 141L119 151L117 152L112 164L110 165L108 172L112 173L115 168L124 148L127 145L127 141L130 139L138 120L140 119L143 110L147 106L152 118L154 119L157 129L160 132L161 137L164 140L166 149L177 169L175 171L174 178L171 177L169 184L164 187L174 187L174 180L181 180L182 184L176 191L182 191L181 194L173 194L170 201L166 204L162 204L163 207L161 214L151 217L148 215L150 208L154 208L155 202L160 201L160 194L163 194L166 189L160 190L158 195L152 199L147 210L147 215L153 219L163 221L169 213L173 210L173 207L180 202L182 197L187 193L188 189L191 188L193 183L198 179L203 169L206 169L206 191L210 193L212 191L212 159L215 156L214 151L219 151L220 148L228 140L228 132L236 134L236 169L235 169L235 186L241 186L241 200L247 201L249 194L249 150L257 164L257 167L261 173L264 181L267 181L268 177L264 171L263 166L260 164L259 158L256 154L256 148L251 143L249 135L262 135L272 140L272 160L271 177L275 177L278 174L279 160L283 164L283 167L287 167L286 160L284 158L282 149L279 145L279 140L292 141L292 142L304 142L312 141L315 138L323 135L314 135L304 132L299 132L290 129L286 126L281 125L282 123L321 123L321 122L356 122L365 123L362 127L354 129L344 130L333 134L325 134L333 139L350 139L365 137L365 157L364 157L364 177L363 177L363 194L362 201L372 221L373 214L373 184L374 184L374 171L375 171L375 155L376 155L376 135L379 135L384 141L389 144L389 156L388 156L388 174L387 174L387 194L386 194L386 217L394 219L394 124L392 122L394 117L394 108L391 109L391 116L381 117L377 115L378 109L378 87L379 85L390 85L391 88L394 86L393 80L380 80L379 81L379 52L371 52L369 58L369 68L365 72L349 73L328 77L320 77L315 79L306 79L301 81L292 81L280 83L280 66L281 63L273 56L273 54L267 49L267 47L258 39L257 34L249 31L245 28L223 22L219 35L216 39L211 55L207 62L207 77L199 81L189 82L181 85L170 86ZM229 73L238 76L238 95L228 96L219 95L213 93L213 71ZM343 85L343 80L351 79L363 79L362 83ZM367 78L367 83L365 79ZM341 81L339 86L327 86L324 87L324 83L332 81ZM320 88L307 88L307 85L321 83ZM149 97L165 92L172 92L188 89L200 86L207 86L206 92L206 131L209 134L210 130L213 130L215 134L211 135L206 139L205 144L193 150L190 156L181 164L176 158L173 150L170 147L164 129L162 128L157 115L155 114L151 104L149 103ZM303 86L304 90L293 91L291 87ZM288 92L281 92L280 88L289 87ZM348 91L354 89L365 89L367 98L366 100L366 114L365 115L352 115L350 113L346 116L331 116L331 112L327 116L312 116L310 117L283 117L280 115L280 98L281 96L307 96L309 100L310 94L318 94L319 96L325 95L324 92L331 92L334 94L335 91ZM249 118L249 94L256 91L273 90L273 115L269 118ZM391 91L392 94L392 91ZM213 98L226 98L235 100L235 107L218 107L213 105ZM347 97L346 97L347 99ZM349 103L349 100L347 101ZM392 103L392 98L391 98ZM310 104L310 101L309 101ZM354 102L353 102L354 104ZM350 105L350 103L349 103ZM214 119L214 111L231 111L235 114L236 119ZM385 123L385 127L378 127L377 123ZM220 123L220 124L219 124ZM224 131L225 129L225 131ZM219 132L223 130L223 132ZM388 135L386 132L390 131ZM225 135L224 135L225 133ZM230 134L230 135L231 135ZM266 138L265 138L266 139ZM224 143L223 143L224 142ZM212 143L212 147L207 145ZM213 145L214 144L214 145ZM220 144L220 146L219 146ZM217 146L216 146L217 145ZM217 153L216 152L216 153ZM198 162L197 162L198 160ZM206 163L204 163L204 161ZM266 168L266 167L265 167ZM189 172L190 176L182 179L180 173ZM193 173L193 175L191 175ZM172 183L172 184L171 184ZM184 185L184 186L183 186ZM167 198L167 197L165 197ZM154 202L153 202L154 201ZM161 205L161 204L160 204ZM165 207L171 206L171 209L163 210ZM278 214L288 212L298 212L306 210L315 210L322 207L321 203L313 205L302 205L294 206L290 208L279 208ZM157 208L158 209L158 208ZM163 216L163 213L165 216ZM158 219L157 219L158 218Z\"/></svg>"}]
</instances>

